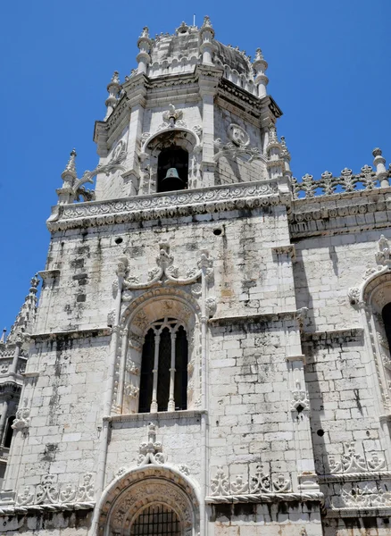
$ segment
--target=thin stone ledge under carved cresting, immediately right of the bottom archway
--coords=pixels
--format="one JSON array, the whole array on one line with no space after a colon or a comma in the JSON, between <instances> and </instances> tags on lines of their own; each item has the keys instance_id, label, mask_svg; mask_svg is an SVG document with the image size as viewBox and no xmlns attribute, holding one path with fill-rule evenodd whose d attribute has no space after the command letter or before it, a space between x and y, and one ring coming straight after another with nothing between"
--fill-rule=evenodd
<instances>
[{"instance_id":1,"label":"thin stone ledge under carved cresting, immediately right of the bottom archway","mask_svg":"<svg viewBox=\"0 0 391 536\"><path fill-rule=\"evenodd\" d=\"M209 505L227 503L273 503L273 502L320 502L324 503L324 495L320 492L308 493L247 493L244 495L224 495L218 497L205 497Z\"/></svg>"}]
</instances>

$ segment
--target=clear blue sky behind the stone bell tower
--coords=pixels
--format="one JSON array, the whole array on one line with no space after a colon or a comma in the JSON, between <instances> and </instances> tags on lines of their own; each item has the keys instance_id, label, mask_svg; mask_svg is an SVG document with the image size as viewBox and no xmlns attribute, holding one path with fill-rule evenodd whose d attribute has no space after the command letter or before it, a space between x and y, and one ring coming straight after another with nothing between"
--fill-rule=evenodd
<instances>
[{"instance_id":1,"label":"clear blue sky behind the stone bell tower","mask_svg":"<svg viewBox=\"0 0 391 536\"><path fill-rule=\"evenodd\" d=\"M0 328L45 267L46 218L72 147L79 175L96 166L94 121L112 71L123 80L136 66L145 25L173 32L195 12L221 42L252 55L261 46L296 177L359 172L374 147L391 161L389 0L2 2Z\"/></svg>"}]
</instances>

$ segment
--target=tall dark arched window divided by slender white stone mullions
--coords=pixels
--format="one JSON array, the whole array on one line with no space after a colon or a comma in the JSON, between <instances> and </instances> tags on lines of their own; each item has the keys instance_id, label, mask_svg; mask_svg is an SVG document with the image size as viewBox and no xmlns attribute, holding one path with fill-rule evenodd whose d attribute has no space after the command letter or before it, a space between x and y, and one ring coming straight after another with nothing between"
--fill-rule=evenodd
<instances>
[{"instance_id":1,"label":"tall dark arched window divided by slender white stone mullions","mask_svg":"<svg viewBox=\"0 0 391 536\"><path fill-rule=\"evenodd\" d=\"M139 413L187 409L187 334L175 318L147 331L141 357Z\"/></svg>"}]
</instances>

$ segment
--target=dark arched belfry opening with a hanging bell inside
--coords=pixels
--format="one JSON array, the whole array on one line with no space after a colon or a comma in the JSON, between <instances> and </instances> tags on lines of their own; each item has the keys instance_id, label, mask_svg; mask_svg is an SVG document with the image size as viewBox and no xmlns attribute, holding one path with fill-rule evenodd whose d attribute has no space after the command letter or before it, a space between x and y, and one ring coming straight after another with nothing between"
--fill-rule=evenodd
<instances>
[{"instance_id":1,"label":"dark arched belfry opening with a hanging bell inside","mask_svg":"<svg viewBox=\"0 0 391 536\"><path fill-rule=\"evenodd\" d=\"M157 191L171 192L187 188L188 153L181 147L162 149L157 160Z\"/></svg>"}]
</instances>

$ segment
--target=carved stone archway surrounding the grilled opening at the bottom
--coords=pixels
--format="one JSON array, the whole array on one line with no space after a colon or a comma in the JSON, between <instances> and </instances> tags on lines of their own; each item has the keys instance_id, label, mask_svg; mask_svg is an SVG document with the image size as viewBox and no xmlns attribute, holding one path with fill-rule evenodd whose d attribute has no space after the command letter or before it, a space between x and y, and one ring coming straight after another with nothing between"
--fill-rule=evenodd
<instances>
[{"instance_id":1,"label":"carved stone archway surrounding the grilled opening at the bottom","mask_svg":"<svg viewBox=\"0 0 391 536\"><path fill-rule=\"evenodd\" d=\"M147 506L158 504L176 513L182 536L199 532L200 501L193 484L172 467L149 465L122 475L105 490L98 535L129 536L137 515Z\"/></svg>"}]
</instances>

